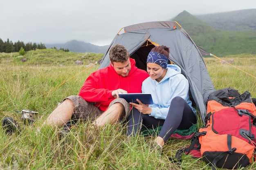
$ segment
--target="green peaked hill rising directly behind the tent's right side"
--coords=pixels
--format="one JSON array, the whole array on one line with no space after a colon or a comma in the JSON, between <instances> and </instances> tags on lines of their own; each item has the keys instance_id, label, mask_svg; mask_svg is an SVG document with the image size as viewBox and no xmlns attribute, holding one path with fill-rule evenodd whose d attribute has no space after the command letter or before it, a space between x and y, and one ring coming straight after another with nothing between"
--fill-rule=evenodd
<instances>
[{"instance_id":1,"label":"green peaked hill rising directly behind the tent's right side","mask_svg":"<svg viewBox=\"0 0 256 170\"><path fill-rule=\"evenodd\" d=\"M253 32L215 29L187 11L171 20L177 21L198 46L218 57L242 53L256 54L256 34Z\"/></svg>"}]
</instances>

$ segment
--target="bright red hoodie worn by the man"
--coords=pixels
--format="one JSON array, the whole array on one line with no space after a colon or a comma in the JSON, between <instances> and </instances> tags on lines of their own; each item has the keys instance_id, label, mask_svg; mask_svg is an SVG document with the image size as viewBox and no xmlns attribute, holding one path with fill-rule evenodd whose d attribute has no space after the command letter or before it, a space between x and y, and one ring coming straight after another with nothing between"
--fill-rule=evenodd
<instances>
[{"instance_id":1,"label":"bright red hoodie worn by the man","mask_svg":"<svg viewBox=\"0 0 256 170\"><path fill-rule=\"evenodd\" d=\"M135 60L130 58L131 70L126 77L118 75L110 64L101 68L85 80L80 89L79 96L87 102L95 102L95 106L105 111L110 102L115 99L111 93L118 88L126 90L128 93L141 93L141 85L149 75L146 71L135 66Z\"/></svg>"}]
</instances>

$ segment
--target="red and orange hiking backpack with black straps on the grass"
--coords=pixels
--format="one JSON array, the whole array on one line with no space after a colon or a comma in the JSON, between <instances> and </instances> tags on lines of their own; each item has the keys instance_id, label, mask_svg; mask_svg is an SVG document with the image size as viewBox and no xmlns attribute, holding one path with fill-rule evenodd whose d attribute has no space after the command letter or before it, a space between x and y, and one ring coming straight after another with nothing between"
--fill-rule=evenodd
<instances>
[{"instance_id":1,"label":"red and orange hiking backpack with black straps on the grass","mask_svg":"<svg viewBox=\"0 0 256 170\"><path fill-rule=\"evenodd\" d=\"M232 88L214 91L207 102L206 126L201 127L181 154L202 157L212 169L239 168L252 163L256 146L256 107L251 94Z\"/></svg>"}]
</instances>

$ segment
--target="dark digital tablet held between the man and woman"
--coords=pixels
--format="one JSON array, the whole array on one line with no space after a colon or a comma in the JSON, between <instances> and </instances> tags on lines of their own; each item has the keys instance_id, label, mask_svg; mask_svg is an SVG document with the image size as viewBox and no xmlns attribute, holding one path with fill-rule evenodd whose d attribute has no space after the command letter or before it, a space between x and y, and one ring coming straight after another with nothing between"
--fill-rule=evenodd
<instances>
[{"instance_id":1,"label":"dark digital tablet held between the man and woman","mask_svg":"<svg viewBox=\"0 0 256 170\"><path fill-rule=\"evenodd\" d=\"M153 99L149 93L119 93L119 97L126 99L127 102L137 103L139 99L143 104L153 104Z\"/></svg>"}]
</instances>

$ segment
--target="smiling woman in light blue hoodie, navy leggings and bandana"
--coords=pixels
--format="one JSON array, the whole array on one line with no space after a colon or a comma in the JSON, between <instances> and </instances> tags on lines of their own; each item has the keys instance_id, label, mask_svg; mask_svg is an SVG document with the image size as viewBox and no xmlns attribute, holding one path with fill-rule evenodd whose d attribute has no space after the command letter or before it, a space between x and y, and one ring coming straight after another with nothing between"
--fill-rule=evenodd
<instances>
[{"instance_id":1,"label":"smiling woman in light blue hoodie, navy leggings and bandana","mask_svg":"<svg viewBox=\"0 0 256 170\"><path fill-rule=\"evenodd\" d=\"M176 129L189 129L196 123L195 109L189 99L189 82L179 66L168 64L169 48L154 47L147 57L150 77L142 83L142 93L151 93L153 104L133 105L128 117L127 135L134 136L141 127L162 126L155 139L155 147L162 150L164 143Z\"/></svg>"}]
</instances>

